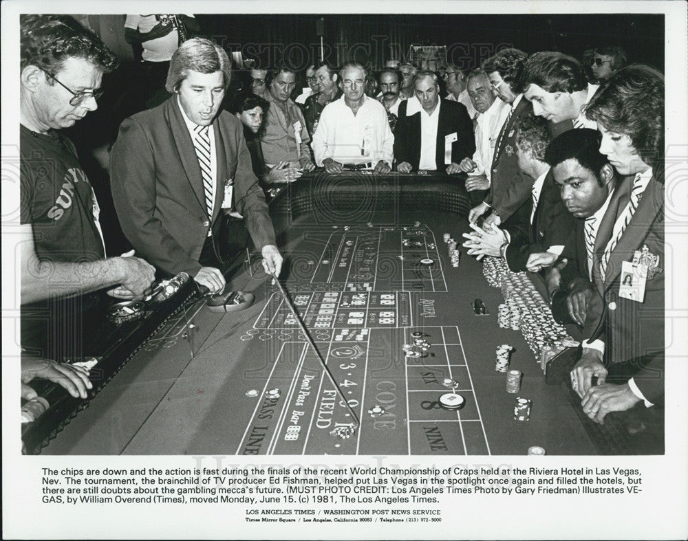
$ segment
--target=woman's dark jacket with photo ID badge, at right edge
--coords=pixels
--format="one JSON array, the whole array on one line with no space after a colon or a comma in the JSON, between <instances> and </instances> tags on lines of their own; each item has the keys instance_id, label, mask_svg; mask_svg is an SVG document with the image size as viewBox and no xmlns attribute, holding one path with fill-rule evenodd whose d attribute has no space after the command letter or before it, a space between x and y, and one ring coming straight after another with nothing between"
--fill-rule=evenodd
<instances>
[{"instance_id":1,"label":"woman's dark jacket with photo ID badge, at right edge","mask_svg":"<svg viewBox=\"0 0 688 541\"><path fill-rule=\"evenodd\" d=\"M633 217L621 239L610 254L604 280L599 262L607 241L611 238L616 217L623 212L630 197L632 177L622 183L618 205L608 208L598 231L600 242L595 243L593 278L597 295L592 309L588 309L584 336L605 342L605 362L624 364L624 373L633 375L634 382L646 399L663 401L664 395L664 183L656 173L650 179ZM643 302L619 296L623 261L632 261L636 251L647 247L658 256L658 272L645 283ZM597 306L594 306L597 303ZM589 303L590 304L590 303Z\"/></svg>"}]
</instances>

